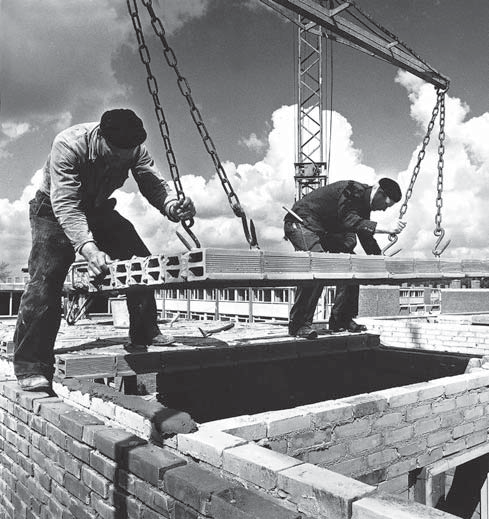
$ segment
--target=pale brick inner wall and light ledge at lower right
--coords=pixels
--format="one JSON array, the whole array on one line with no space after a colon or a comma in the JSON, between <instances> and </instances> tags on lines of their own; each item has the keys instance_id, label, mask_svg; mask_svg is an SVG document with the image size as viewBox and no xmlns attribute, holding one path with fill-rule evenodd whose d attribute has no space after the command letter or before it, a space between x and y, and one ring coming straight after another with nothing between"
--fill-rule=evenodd
<instances>
[{"instance_id":1,"label":"pale brick inner wall and light ledge at lower right","mask_svg":"<svg viewBox=\"0 0 489 519\"><path fill-rule=\"evenodd\" d=\"M374 501L358 507L353 517L383 517L366 511L377 507L377 492L406 497L412 471L487 441L488 399L489 371L479 370L209 422L193 434L179 434L173 447L314 517L350 518L353 503L367 496ZM288 481L301 471L310 487ZM354 497L329 487L330 474L332 481L355 488ZM394 501L378 507L392 508ZM424 517L418 507L406 514Z\"/></svg>"}]
</instances>

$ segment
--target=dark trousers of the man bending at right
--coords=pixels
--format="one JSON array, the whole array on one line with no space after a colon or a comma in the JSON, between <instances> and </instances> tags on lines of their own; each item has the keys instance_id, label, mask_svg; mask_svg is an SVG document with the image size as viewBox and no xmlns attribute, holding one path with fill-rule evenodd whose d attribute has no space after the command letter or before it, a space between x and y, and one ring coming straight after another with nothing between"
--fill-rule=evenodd
<instances>
[{"instance_id":1,"label":"dark trousers of the man bending at right","mask_svg":"<svg viewBox=\"0 0 489 519\"><path fill-rule=\"evenodd\" d=\"M311 252L346 252L352 253L356 245L354 233L319 235L300 223L284 224L286 238L295 250ZM295 333L301 326L312 324L314 312L323 291L324 284L297 287L295 302L289 316L289 331ZM331 309L331 322L337 326L347 325L358 314L358 285L340 283L336 286L336 297Z\"/></svg>"}]
</instances>

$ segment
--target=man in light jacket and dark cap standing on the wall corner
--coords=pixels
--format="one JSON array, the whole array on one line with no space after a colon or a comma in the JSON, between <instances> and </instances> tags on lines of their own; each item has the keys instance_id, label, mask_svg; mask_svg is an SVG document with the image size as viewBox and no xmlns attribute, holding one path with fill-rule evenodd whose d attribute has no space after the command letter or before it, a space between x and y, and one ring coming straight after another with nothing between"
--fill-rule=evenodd
<instances>
[{"instance_id":1,"label":"man in light jacket and dark cap standing on the wall corner","mask_svg":"<svg viewBox=\"0 0 489 519\"><path fill-rule=\"evenodd\" d=\"M103 276L111 259L150 254L133 225L115 211L116 200L109 198L129 170L142 195L171 221L195 214L192 200L178 199L159 176L145 140L143 122L128 109L109 110L100 123L72 126L54 139L41 187L30 202L30 280L14 335L14 370L24 390L51 386L62 288L75 253L88 262L92 277ZM131 288L127 306L129 351L173 342L158 328L153 290Z\"/></svg>"}]
</instances>

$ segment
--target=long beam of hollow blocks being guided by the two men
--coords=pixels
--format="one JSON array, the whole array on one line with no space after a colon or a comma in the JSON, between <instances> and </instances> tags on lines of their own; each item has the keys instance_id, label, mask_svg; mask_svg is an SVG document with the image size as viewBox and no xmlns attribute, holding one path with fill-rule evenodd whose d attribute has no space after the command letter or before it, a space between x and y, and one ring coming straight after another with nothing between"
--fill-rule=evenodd
<instances>
[{"instance_id":1,"label":"long beam of hollow blocks being guided by the two men","mask_svg":"<svg viewBox=\"0 0 489 519\"><path fill-rule=\"evenodd\" d=\"M156 287L200 281L250 280L266 285L308 280L419 280L482 277L488 261L418 260L382 256L273 252L241 249L193 249L173 255L156 255L114 261L98 288L87 280L84 264L75 264L71 279L81 280L89 291L123 290L132 285ZM88 286L87 286L88 283Z\"/></svg>"}]
</instances>

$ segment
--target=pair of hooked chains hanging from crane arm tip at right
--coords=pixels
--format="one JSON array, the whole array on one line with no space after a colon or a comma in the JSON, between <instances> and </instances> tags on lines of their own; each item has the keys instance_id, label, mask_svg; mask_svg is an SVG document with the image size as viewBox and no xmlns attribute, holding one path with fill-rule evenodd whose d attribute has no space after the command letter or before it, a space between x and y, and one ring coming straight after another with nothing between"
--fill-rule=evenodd
<instances>
[{"instance_id":1,"label":"pair of hooked chains hanging from crane arm tip at right","mask_svg":"<svg viewBox=\"0 0 489 519\"><path fill-rule=\"evenodd\" d=\"M426 155L426 148L430 142L431 132L433 131L433 127L435 126L436 118L438 117L438 114L440 114L440 144L438 146L438 185L437 185L438 191L437 191L437 202L436 202L438 210L437 210L437 217L436 217L437 228L435 229L435 236L440 236L440 238L435 246L435 249L439 245L439 243L441 242L441 240L443 239L443 236L445 234L445 231L441 227L438 227L439 224L441 224L441 206L443 205L442 190L443 190L443 154L445 152L445 146L443 144L443 141L445 139L445 93L446 93L446 90L442 90L439 88L437 88L437 90L436 90L436 94L437 94L436 95L436 97L437 97L436 104L435 104L435 107L433 108L433 112L431 114L430 122L428 123L428 128L426 130L426 134L423 137L423 144L421 145L421 149L418 152L416 165L414 166L413 173L411 175L409 187L406 190L404 202L402 203L401 209L399 211L399 220L402 220L402 218L406 214L408 202L411 199L411 196L413 194L414 184L416 183L416 179L418 178L418 174L421 169L421 162L423 161L423 159ZM389 244L382 249L382 254L384 256L385 255L394 256L395 254L397 254L398 252L401 251L401 249L397 249L395 252L386 254L386 252L391 247L394 246L394 244L397 242L397 240L398 240L397 234L389 234ZM448 242L448 243L450 243L450 242ZM448 243L443 247L441 252L439 252L438 254L435 254L435 249L433 249L433 254L435 254L435 256L439 256L448 247Z\"/></svg>"}]
</instances>

